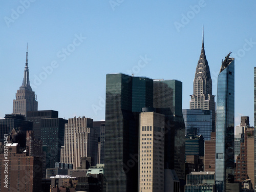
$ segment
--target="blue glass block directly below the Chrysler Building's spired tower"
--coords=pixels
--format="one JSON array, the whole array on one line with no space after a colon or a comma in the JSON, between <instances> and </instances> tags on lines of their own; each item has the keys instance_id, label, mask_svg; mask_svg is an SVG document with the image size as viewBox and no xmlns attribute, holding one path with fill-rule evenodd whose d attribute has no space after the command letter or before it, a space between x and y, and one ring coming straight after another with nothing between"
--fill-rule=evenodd
<instances>
[{"instance_id":1,"label":"blue glass block directly below the Chrysler Building's spired tower","mask_svg":"<svg viewBox=\"0 0 256 192\"><path fill-rule=\"evenodd\" d=\"M215 122L211 110L182 110L186 135L202 135L210 140L211 132L215 132ZM215 112L214 112L215 114Z\"/></svg>"}]
</instances>

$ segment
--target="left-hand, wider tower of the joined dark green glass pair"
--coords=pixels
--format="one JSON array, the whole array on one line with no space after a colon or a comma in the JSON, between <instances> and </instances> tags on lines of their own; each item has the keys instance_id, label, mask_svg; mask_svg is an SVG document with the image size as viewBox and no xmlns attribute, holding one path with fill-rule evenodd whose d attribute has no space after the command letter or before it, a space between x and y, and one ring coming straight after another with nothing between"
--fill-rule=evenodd
<instances>
[{"instance_id":1,"label":"left-hand, wider tower of the joined dark green glass pair","mask_svg":"<svg viewBox=\"0 0 256 192\"><path fill-rule=\"evenodd\" d=\"M153 102L151 84L150 78L106 75L106 191L137 191L138 115Z\"/></svg>"}]
</instances>

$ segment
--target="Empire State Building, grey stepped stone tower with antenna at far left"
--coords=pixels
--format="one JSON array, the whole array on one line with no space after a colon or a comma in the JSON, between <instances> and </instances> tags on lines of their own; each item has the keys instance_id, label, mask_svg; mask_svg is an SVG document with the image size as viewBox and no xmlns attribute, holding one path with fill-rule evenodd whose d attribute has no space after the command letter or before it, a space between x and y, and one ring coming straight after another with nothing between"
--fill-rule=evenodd
<instances>
[{"instance_id":1,"label":"Empire State Building, grey stepped stone tower with antenna at far left","mask_svg":"<svg viewBox=\"0 0 256 192\"><path fill-rule=\"evenodd\" d=\"M29 68L28 68L28 45L26 66L24 70L24 78L22 86L19 87L16 93L16 99L13 100L13 114L22 114L26 116L28 111L37 111L37 101L35 92L32 91L29 82Z\"/></svg>"}]
</instances>

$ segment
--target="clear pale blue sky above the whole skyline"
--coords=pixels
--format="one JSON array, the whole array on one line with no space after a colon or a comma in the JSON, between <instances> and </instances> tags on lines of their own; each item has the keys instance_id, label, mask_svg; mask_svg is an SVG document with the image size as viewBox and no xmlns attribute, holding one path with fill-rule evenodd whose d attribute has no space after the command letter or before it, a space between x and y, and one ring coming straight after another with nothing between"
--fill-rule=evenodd
<instances>
[{"instance_id":1,"label":"clear pale blue sky above the whole skyline","mask_svg":"<svg viewBox=\"0 0 256 192\"><path fill-rule=\"evenodd\" d=\"M212 94L221 60L235 59L235 125L253 126L255 1L1 1L0 118L12 113L28 44L30 83L38 110L68 119L105 119L105 79L125 73L183 84L189 109L204 26Z\"/></svg>"}]
</instances>

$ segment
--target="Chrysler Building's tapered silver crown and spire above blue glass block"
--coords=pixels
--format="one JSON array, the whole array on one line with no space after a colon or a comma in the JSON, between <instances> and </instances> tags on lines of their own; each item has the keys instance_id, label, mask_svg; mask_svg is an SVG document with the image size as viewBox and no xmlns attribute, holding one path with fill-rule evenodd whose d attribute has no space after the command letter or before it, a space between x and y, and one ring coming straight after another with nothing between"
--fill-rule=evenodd
<instances>
[{"instance_id":1,"label":"Chrysler Building's tapered silver crown and spire above blue glass block","mask_svg":"<svg viewBox=\"0 0 256 192\"><path fill-rule=\"evenodd\" d=\"M215 96L212 95L210 68L204 51L204 31L200 58L194 79L194 93L189 102L189 109L212 110L215 112Z\"/></svg>"}]
</instances>

